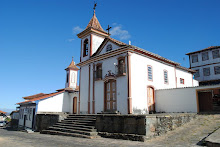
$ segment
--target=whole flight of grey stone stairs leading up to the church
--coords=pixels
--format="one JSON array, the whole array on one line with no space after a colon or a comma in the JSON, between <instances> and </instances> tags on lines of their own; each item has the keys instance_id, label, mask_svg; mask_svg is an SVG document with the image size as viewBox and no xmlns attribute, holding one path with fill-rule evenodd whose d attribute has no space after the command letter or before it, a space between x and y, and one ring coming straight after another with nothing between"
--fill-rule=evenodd
<instances>
[{"instance_id":1,"label":"whole flight of grey stone stairs leading up to the church","mask_svg":"<svg viewBox=\"0 0 220 147\"><path fill-rule=\"evenodd\" d=\"M98 132L95 129L96 116L94 115L68 115L66 119L56 123L42 134L65 135L82 138L97 138Z\"/></svg>"}]
</instances>

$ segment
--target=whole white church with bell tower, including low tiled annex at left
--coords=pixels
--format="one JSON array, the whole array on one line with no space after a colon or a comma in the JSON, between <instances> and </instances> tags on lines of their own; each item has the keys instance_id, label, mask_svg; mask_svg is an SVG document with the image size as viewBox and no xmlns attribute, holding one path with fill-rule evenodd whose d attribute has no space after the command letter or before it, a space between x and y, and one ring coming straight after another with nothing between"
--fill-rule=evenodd
<instances>
[{"instance_id":1,"label":"whole white church with bell tower, including low tiled annex at left","mask_svg":"<svg viewBox=\"0 0 220 147\"><path fill-rule=\"evenodd\" d=\"M149 114L156 111L155 90L198 86L194 70L111 38L95 11L77 36L81 39L80 63L72 60L65 69L65 88L23 97L17 103L19 126L34 129L36 114L42 113Z\"/></svg>"}]
</instances>

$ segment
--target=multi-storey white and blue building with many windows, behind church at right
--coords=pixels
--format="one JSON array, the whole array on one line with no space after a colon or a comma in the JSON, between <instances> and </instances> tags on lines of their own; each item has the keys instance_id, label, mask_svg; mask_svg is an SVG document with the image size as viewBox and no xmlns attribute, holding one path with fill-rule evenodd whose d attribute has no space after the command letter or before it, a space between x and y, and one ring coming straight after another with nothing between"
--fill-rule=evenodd
<instances>
[{"instance_id":1,"label":"multi-storey white and blue building with many windows, behind church at right","mask_svg":"<svg viewBox=\"0 0 220 147\"><path fill-rule=\"evenodd\" d=\"M196 71L194 77L200 85L210 85L220 83L220 46L210 46L208 48L190 52L190 69Z\"/></svg>"}]
</instances>

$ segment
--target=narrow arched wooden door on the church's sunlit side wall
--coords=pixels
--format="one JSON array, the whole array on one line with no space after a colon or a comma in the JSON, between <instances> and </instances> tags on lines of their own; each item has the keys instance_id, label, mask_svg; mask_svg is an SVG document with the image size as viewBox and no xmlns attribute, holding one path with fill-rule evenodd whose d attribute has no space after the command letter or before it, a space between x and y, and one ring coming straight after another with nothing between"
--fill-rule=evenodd
<instances>
[{"instance_id":1,"label":"narrow arched wooden door on the church's sunlit side wall","mask_svg":"<svg viewBox=\"0 0 220 147\"><path fill-rule=\"evenodd\" d=\"M152 87L147 88L147 105L149 112L155 111L154 89Z\"/></svg>"}]
</instances>

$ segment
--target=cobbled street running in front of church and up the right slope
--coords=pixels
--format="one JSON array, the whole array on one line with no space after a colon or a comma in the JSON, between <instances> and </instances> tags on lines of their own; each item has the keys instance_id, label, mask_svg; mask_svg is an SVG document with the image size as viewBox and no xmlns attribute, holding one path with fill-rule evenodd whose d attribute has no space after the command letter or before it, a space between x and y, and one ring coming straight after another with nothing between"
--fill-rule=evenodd
<instances>
[{"instance_id":1,"label":"cobbled street running in front of church and up the right slope","mask_svg":"<svg viewBox=\"0 0 220 147\"><path fill-rule=\"evenodd\" d=\"M147 142L108 138L84 139L67 136L25 133L0 129L3 147L70 147L70 146L197 146L204 137L220 127L220 115L200 115L197 119L166 135Z\"/></svg>"}]
</instances>

